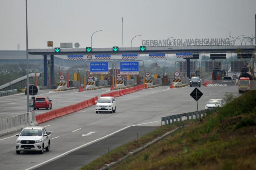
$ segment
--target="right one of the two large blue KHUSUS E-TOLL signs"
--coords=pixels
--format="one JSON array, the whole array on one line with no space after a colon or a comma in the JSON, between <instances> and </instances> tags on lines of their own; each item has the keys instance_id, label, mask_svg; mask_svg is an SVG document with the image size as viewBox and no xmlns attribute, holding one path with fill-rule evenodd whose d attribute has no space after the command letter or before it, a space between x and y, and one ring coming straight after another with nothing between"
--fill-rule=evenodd
<instances>
[{"instance_id":1,"label":"right one of the two large blue KHUSUS E-TOLL signs","mask_svg":"<svg viewBox=\"0 0 256 170\"><path fill-rule=\"evenodd\" d=\"M121 74L139 74L139 61L121 61Z\"/></svg>"}]
</instances>

